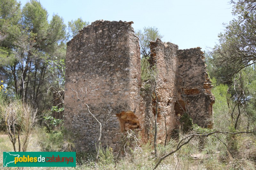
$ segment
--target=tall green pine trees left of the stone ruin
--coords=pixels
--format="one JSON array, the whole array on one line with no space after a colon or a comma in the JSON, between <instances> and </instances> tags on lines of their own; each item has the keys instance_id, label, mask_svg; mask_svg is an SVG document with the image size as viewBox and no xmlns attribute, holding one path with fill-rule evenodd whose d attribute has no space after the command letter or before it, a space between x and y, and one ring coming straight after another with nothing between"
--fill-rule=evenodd
<instances>
[{"instance_id":1,"label":"tall green pine trees left of the stone ruin","mask_svg":"<svg viewBox=\"0 0 256 170\"><path fill-rule=\"evenodd\" d=\"M41 115L52 106L52 93L64 90L67 26L56 14L49 21L37 0L22 10L16 0L3 0L0 11L0 75L10 94L32 102Z\"/></svg>"}]
</instances>

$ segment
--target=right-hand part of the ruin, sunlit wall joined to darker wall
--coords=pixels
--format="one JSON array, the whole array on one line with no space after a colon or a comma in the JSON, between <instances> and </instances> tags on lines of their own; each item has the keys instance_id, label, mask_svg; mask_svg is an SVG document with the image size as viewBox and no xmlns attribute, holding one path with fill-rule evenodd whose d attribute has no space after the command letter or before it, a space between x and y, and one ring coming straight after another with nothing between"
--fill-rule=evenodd
<instances>
[{"instance_id":1,"label":"right-hand part of the ruin, sunlit wall joined to darker wall","mask_svg":"<svg viewBox=\"0 0 256 170\"><path fill-rule=\"evenodd\" d=\"M212 126L211 81L206 72L204 52L201 48L178 50L178 46L160 39L150 41L150 67L156 69L158 97L158 143L164 142L167 133L180 125L180 118L187 114L193 123L202 127ZM154 95L153 95L154 96ZM155 114L156 99L152 98ZM165 119L164 120L164 116Z\"/></svg>"}]
</instances>

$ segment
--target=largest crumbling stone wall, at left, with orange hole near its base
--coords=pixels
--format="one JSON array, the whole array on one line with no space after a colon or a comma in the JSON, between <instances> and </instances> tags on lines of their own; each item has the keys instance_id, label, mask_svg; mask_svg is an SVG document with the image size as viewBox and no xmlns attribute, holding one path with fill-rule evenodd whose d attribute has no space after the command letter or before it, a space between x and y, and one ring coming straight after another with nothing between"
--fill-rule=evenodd
<instances>
[{"instance_id":1,"label":"largest crumbling stone wall, at left, with orange hole near its base","mask_svg":"<svg viewBox=\"0 0 256 170\"><path fill-rule=\"evenodd\" d=\"M97 20L68 42L65 126L78 150L95 149L99 124L74 91L102 123L102 145L116 149L127 123L140 130L140 79L140 46L130 23Z\"/></svg>"}]
</instances>

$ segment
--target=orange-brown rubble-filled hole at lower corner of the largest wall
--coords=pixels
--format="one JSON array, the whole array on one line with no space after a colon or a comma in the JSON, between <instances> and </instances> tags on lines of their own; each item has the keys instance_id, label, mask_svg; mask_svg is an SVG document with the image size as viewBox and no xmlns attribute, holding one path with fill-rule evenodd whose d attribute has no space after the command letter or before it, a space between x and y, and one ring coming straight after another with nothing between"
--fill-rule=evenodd
<instances>
[{"instance_id":1,"label":"orange-brown rubble-filled hole at lower corner of the largest wall","mask_svg":"<svg viewBox=\"0 0 256 170\"><path fill-rule=\"evenodd\" d=\"M129 129L140 131L140 122L138 118L134 115L132 111L121 112L120 114L116 114L120 124L120 131L124 132Z\"/></svg>"}]
</instances>

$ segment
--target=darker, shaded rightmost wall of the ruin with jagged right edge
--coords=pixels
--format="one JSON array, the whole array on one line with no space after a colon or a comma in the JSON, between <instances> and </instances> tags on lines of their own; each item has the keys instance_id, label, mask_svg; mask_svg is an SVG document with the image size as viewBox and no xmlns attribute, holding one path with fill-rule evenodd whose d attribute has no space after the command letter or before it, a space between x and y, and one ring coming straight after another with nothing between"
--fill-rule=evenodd
<instances>
[{"instance_id":1,"label":"darker, shaded rightmost wall of the ruin with jagged right edge","mask_svg":"<svg viewBox=\"0 0 256 170\"><path fill-rule=\"evenodd\" d=\"M193 122L202 127L212 126L211 81L206 72L204 52L201 48L179 50L178 100L187 106L188 115ZM185 100L185 101L184 101ZM176 114L180 114L178 109Z\"/></svg>"}]
</instances>

